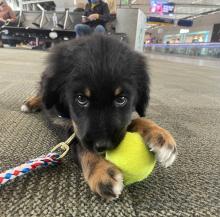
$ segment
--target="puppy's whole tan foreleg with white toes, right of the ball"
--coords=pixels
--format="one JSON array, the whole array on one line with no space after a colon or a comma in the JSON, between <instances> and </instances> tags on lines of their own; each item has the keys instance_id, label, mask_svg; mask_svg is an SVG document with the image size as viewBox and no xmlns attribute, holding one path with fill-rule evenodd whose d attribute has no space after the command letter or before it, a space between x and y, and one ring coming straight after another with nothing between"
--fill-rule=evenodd
<instances>
[{"instance_id":1,"label":"puppy's whole tan foreleg with white toes, right of the ball","mask_svg":"<svg viewBox=\"0 0 220 217\"><path fill-rule=\"evenodd\" d=\"M168 167L174 162L177 155L176 142L167 130L145 118L133 120L128 130L141 134L163 166Z\"/></svg>"}]
</instances>

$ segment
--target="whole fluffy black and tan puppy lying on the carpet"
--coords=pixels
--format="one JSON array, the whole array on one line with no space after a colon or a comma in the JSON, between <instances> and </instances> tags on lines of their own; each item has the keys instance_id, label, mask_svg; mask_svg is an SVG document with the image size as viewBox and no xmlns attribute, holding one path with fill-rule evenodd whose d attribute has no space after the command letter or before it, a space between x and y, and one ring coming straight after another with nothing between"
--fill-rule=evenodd
<instances>
[{"instance_id":1,"label":"whole fluffy black and tan puppy lying on the carpet","mask_svg":"<svg viewBox=\"0 0 220 217\"><path fill-rule=\"evenodd\" d=\"M123 176L100 153L115 148L127 129L138 131L164 166L173 163L176 144L168 131L145 115L149 101L146 60L116 39L93 35L58 45L49 55L39 94L21 110L43 109L73 125L75 154L91 190L118 197Z\"/></svg>"}]
</instances>

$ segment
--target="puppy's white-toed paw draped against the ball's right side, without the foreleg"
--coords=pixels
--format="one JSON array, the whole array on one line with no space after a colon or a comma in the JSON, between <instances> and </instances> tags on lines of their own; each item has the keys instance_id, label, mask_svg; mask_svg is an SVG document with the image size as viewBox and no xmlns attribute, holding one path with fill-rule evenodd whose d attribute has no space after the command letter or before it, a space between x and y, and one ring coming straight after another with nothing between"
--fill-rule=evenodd
<instances>
[{"instance_id":1,"label":"puppy's white-toed paw draped against the ball's right side, without the foreleg","mask_svg":"<svg viewBox=\"0 0 220 217\"><path fill-rule=\"evenodd\" d=\"M167 130L163 128L153 130L148 145L163 166L168 167L173 164L177 155L176 142Z\"/></svg>"}]
</instances>

